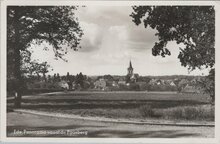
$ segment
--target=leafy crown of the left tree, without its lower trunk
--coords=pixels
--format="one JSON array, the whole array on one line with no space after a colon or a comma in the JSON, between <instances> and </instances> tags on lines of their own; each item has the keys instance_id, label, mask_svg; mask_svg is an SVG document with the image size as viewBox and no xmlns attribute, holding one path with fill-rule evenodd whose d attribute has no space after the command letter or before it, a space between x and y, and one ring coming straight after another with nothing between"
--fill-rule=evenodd
<instances>
[{"instance_id":1,"label":"leafy crown of the left tree, without its lower trunk","mask_svg":"<svg viewBox=\"0 0 220 144\"><path fill-rule=\"evenodd\" d=\"M45 41L52 45L55 56L62 58L67 53L64 45L77 50L83 35L74 15L76 9L75 6L9 6L8 42L13 44L18 36L16 46L23 51L33 41L36 44Z\"/></svg>"}]
</instances>

